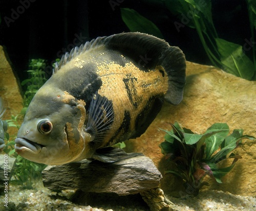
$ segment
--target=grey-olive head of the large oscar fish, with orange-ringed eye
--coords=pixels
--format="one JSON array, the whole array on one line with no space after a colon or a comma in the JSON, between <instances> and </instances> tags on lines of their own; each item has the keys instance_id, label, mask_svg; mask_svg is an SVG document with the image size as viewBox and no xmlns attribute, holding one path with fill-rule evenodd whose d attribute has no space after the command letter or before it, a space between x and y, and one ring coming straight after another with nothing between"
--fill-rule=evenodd
<instances>
[{"instance_id":1,"label":"grey-olive head of the large oscar fish, with orange-ringed eye","mask_svg":"<svg viewBox=\"0 0 256 211\"><path fill-rule=\"evenodd\" d=\"M48 165L72 162L86 149L85 102L68 92L41 87L32 99L15 139L15 151Z\"/></svg>"}]
</instances>

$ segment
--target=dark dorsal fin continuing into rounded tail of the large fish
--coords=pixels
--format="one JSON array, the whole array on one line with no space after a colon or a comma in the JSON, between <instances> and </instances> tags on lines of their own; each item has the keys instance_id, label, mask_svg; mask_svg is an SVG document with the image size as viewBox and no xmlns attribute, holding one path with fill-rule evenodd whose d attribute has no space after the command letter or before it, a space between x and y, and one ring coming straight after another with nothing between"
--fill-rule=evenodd
<instances>
[{"instance_id":1,"label":"dark dorsal fin continuing into rounded tail of the large fish","mask_svg":"<svg viewBox=\"0 0 256 211\"><path fill-rule=\"evenodd\" d=\"M185 56L180 48L170 46L164 40L139 32L120 33L109 37L98 37L79 48L73 48L56 63L53 72L84 51L104 45L106 49L119 51L141 68L154 68L161 65L168 74L168 91L164 99L178 104L183 97L185 86Z\"/></svg>"}]
</instances>

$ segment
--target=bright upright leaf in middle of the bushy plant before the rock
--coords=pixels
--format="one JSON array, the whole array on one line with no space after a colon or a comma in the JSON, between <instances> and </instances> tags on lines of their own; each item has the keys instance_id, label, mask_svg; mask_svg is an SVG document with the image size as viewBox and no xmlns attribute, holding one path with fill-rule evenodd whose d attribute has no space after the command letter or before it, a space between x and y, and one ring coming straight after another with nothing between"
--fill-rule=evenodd
<instances>
[{"instance_id":1,"label":"bright upright leaf in middle of the bushy plant before the rock","mask_svg":"<svg viewBox=\"0 0 256 211\"><path fill-rule=\"evenodd\" d=\"M205 134L218 130L220 131L220 133L217 133L205 139L206 160L210 159L210 156L220 147L221 143L224 141L225 137L229 133L229 127L226 123L215 123L206 130Z\"/></svg>"}]
</instances>

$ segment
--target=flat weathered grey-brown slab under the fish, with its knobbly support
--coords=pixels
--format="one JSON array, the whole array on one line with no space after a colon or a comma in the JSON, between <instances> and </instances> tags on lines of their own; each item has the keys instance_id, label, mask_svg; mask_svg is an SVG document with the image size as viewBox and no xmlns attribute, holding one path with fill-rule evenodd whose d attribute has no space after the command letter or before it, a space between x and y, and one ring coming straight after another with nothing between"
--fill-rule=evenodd
<instances>
[{"instance_id":1,"label":"flat weathered grey-brown slab under the fish, with its knobbly support","mask_svg":"<svg viewBox=\"0 0 256 211\"><path fill-rule=\"evenodd\" d=\"M129 154L128 154L129 155ZM151 210L178 210L158 188L161 173L148 157L140 154L114 163L83 160L42 171L44 186L50 190L81 190L85 193L140 193Z\"/></svg>"}]
</instances>

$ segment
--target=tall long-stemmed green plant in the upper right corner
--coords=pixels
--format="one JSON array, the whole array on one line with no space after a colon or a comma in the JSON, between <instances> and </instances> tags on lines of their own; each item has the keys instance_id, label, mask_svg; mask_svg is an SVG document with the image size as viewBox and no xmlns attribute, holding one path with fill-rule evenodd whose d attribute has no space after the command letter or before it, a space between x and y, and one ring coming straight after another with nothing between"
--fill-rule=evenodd
<instances>
[{"instance_id":1,"label":"tall long-stemmed green plant in the upper right corner","mask_svg":"<svg viewBox=\"0 0 256 211\"><path fill-rule=\"evenodd\" d=\"M252 1L247 1L250 14L251 38L254 40L255 9ZM167 8L183 20L190 28L197 30L199 38L211 63L223 70L245 78L256 80L255 46L252 45L253 62L246 56L244 46L219 38L211 14L211 1L182 0L167 1ZM184 17L186 22L184 22ZM177 23L182 25L182 23ZM183 25L184 27L184 25ZM178 26L179 28L179 26ZM252 41L252 43L254 43Z\"/></svg>"}]
</instances>

